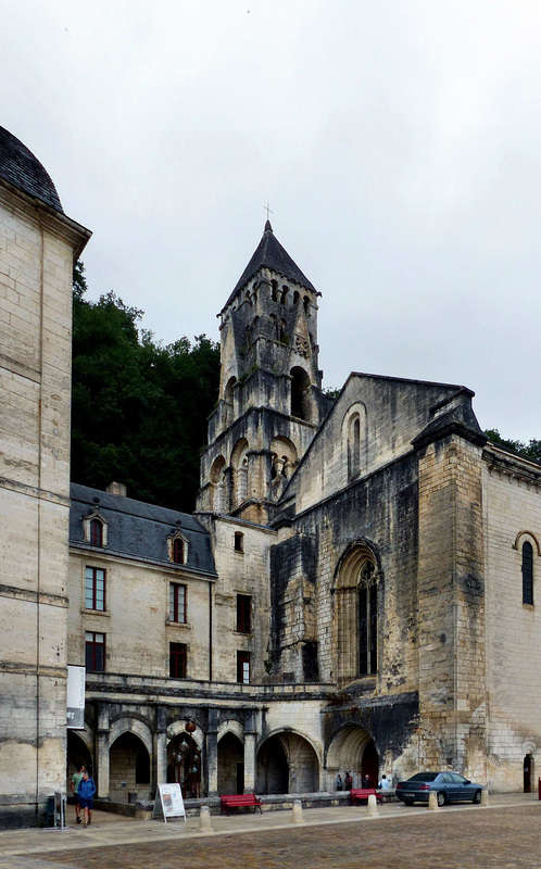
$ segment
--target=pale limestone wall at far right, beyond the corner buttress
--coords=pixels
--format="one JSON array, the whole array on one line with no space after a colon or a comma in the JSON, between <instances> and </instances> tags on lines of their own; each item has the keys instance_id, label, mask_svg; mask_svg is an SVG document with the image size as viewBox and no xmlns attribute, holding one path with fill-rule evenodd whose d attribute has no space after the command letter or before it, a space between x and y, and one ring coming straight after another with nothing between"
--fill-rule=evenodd
<instances>
[{"instance_id":1,"label":"pale limestone wall at far right, beyond the corner buttress","mask_svg":"<svg viewBox=\"0 0 541 869\"><path fill-rule=\"evenodd\" d=\"M488 764L494 791L521 791L525 755L541 776L541 486L539 466L491 448L483 469ZM534 482L537 478L538 482ZM519 532L523 536L516 544ZM521 545L533 546L533 606L523 604ZM516 547L515 547L516 545Z\"/></svg>"}]
</instances>

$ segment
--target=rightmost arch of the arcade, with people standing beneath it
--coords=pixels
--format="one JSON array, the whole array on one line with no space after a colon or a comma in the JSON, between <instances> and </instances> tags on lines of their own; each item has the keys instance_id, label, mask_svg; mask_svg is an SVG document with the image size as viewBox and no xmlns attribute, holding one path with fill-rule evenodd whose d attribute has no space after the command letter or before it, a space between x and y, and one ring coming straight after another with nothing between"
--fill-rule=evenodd
<instances>
[{"instance_id":1,"label":"rightmost arch of the arcade, with people standing beneath it","mask_svg":"<svg viewBox=\"0 0 541 869\"><path fill-rule=\"evenodd\" d=\"M327 752L327 788L335 790L337 774L342 779L351 772L353 788L363 786L363 777L368 776L369 786L378 783L379 758L374 740L361 725L348 725L332 736Z\"/></svg>"}]
</instances>

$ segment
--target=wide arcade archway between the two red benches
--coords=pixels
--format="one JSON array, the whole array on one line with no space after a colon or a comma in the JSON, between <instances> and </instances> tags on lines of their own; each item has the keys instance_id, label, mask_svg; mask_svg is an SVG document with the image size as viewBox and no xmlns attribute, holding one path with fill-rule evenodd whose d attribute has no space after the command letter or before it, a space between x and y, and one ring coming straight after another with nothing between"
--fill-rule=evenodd
<instances>
[{"instance_id":1,"label":"wide arcade archway between the two red benches","mask_svg":"<svg viewBox=\"0 0 541 869\"><path fill-rule=\"evenodd\" d=\"M292 731L270 736L257 753L257 793L300 794L319 789L319 760L311 743Z\"/></svg>"}]
</instances>

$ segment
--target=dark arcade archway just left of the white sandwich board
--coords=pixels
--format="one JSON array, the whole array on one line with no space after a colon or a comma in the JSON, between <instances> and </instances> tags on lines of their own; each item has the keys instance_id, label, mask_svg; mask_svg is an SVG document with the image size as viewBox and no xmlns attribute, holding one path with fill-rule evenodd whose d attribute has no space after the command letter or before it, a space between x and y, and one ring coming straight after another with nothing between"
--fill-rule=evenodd
<instances>
[{"instance_id":1,"label":"dark arcade archway just left of the white sandwich board","mask_svg":"<svg viewBox=\"0 0 541 869\"><path fill-rule=\"evenodd\" d=\"M113 802L127 803L129 794L150 799L150 756L135 733L123 733L109 750L109 793Z\"/></svg>"}]
</instances>

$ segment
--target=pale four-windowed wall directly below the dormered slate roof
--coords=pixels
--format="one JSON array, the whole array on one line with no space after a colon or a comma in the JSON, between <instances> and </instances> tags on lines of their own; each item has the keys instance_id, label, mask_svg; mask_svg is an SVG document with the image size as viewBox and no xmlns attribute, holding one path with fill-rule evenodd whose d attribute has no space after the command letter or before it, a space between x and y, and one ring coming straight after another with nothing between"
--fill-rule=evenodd
<instances>
[{"instance_id":1,"label":"pale four-windowed wall directly below the dormered slate roof","mask_svg":"<svg viewBox=\"0 0 541 869\"><path fill-rule=\"evenodd\" d=\"M85 608L85 569L105 570L104 613ZM169 624L169 583L187 585L187 624ZM169 643L188 645L188 679L209 679L209 580L96 551L70 554L68 662L85 664L85 632L105 634L105 671L169 675Z\"/></svg>"}]
</instances>

